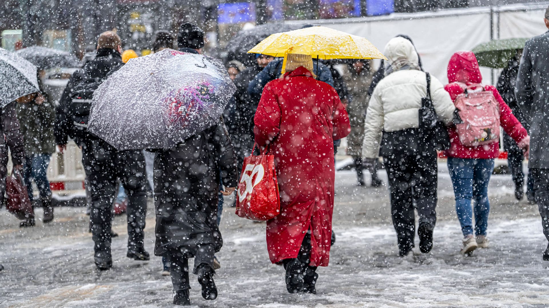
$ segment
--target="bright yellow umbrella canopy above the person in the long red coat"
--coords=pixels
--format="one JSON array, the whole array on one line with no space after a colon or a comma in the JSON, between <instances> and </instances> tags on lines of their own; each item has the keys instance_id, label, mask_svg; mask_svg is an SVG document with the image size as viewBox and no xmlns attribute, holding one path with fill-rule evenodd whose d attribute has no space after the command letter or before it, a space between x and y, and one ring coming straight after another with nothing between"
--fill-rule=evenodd
<instances>
[{"instance_id":1,"label":"bright yellow umbrella canopy above the person in the long red coat","mask_svg":"<svg viewBox=\"0 0 549 308\"><path fill-rule=\"evenodd\" d=\"M248 53L275 57L285 53L306 54L318 59L387 59L366 38L322 26L275 33Z\"/></svg>"}]
</instances>

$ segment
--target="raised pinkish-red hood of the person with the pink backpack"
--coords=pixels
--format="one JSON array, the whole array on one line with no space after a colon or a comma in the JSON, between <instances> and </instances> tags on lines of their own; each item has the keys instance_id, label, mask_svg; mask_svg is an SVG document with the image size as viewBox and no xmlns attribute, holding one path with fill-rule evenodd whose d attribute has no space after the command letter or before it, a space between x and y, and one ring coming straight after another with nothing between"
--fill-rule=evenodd
<instances>
[{"instance_id":1,"label":"raised pinkish-red hood of the person with the pink backpack","mask_svg":"<svg viewBox=\"0 0 549 308\"><path fill-rule=\"evenodd\" d=\"M448 63L448 81L462 83L481 83L479 62L473 52L457 52Z\"/></svg>"}]
</instances>

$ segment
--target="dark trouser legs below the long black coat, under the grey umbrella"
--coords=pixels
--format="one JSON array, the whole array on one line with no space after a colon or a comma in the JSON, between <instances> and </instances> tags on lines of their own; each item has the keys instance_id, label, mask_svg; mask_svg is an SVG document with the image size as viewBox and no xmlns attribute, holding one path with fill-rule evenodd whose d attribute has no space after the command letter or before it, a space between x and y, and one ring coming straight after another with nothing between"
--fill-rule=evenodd
<instances>
[{"instance_id":1,"label":"dark trouser legs below the long black coat, under the grey umbrella","mask_svg":"<svg viewBox=\"0 0 549 308\"><path fill-rule=\"evenodd\" d=\"M198 273L200 265L209 265L214 269L215 249L212 244L199 245L197 253L194 256L193 273ZM167 253L168 264L170 266L170 276L172 278L173 290L175 292L191 289L189 285L189 258L181 250L170 250Z\"/></svg>"}]
</instances>

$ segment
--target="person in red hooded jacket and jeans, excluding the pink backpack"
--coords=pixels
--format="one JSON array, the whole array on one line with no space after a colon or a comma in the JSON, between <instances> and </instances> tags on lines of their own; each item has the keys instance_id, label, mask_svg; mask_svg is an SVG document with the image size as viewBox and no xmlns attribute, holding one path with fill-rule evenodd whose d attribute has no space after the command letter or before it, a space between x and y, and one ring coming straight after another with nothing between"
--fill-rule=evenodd
<instances>
[{"instance_id":1,"label":"person in red hooded jacket and jeans, excluding the pink backpack","mask_svg":"<svg viewBox=\"0 0 549 308\"><path fill-rule=\"evenodd\" d=\"M499 125L496 123L497 130L499 131L501 125L503 130L517 142L520 149L528 151L530 138L526 129L513 116L511 109L505 104L496 87L481 84L482 76L473 52L457 52L452 55L448 64L448 81L450 83L445 86L445 90L455 103L460 99L458 97L460 94L465 94L464 97L467 99L469 93L490 93L488 96L488 99L491 100L490 104L497 104L493 108L495 112L499 113L496 113L494 119L491 119L489 118L490 110L487 110L485 112L486 119L499 120ZM462 110L459 112L463 115ZM461 121L467 121L467 119L461 117ZM455 126L449 128L448 132L450 149L446 150L446 156L448 156L448 169L456 196L457 218L460 220L463 233L461 253L470 254L478 247L486 248L489 244L486 231L490 212L488 184L494 170L494 158L500 154L499 134L494 136L494 141L491 143L466 146L460 139L464 138L463 135L458 134ZM485 132L487 133L486 138L490 138L492 134L490 129L485 129ZM471 208L471 199L474 199L473 209ZM475 217L474 235L473 213Z\"/></svg>"}]
</instances>

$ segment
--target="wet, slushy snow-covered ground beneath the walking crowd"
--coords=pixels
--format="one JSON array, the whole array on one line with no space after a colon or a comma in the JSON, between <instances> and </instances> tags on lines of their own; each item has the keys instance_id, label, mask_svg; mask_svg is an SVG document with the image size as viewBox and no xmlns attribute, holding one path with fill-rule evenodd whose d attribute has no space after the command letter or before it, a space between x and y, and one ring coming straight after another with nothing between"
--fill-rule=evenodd
<instances>
[{"instance_id":1,"label":"wet, slushy snow-covered ground beneath the walking crowd","mask_svg":"<svg viewBox=\"0 0 549 308\"><path fill-rule=\"evenodd\" d=\"M386 182L384 170L380 171ZM368 175L369 178L369 175ZM338 172L334 211L337 242L330 266L318 270L316 295L288 294L281 266L271 265L265 225L223 213L225 239L215 277L219 296L205 301L191 279L198 307L547 307L549 275L541 260L547 241L537 206L513 197L509 175L490 185L491 246L464 258L453 192L444 164L439 175L439 221L427 255L397 256L386 187L355 186L355 174ZM52 224L19 229L0 210L0 307L172 307L171 281L161 260L126 258L125 218L115 219L114 269L97 272L83 208L56 208ZM42 210L37 210L41 218ZM146 248L154 245L149 204Z\"/></svg>"}]
</instances>

